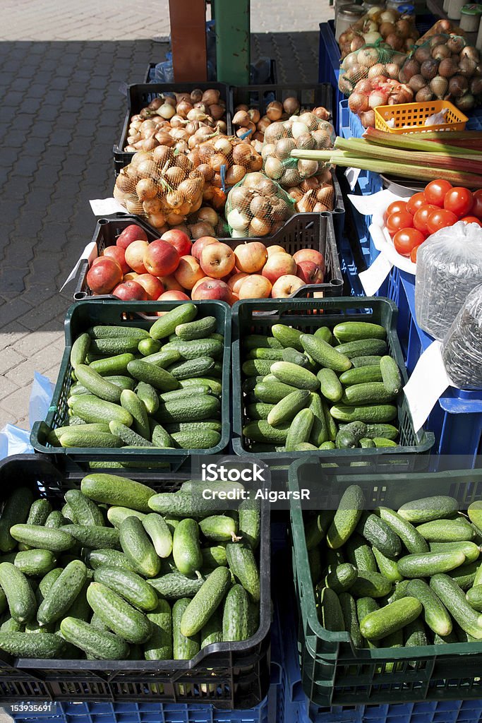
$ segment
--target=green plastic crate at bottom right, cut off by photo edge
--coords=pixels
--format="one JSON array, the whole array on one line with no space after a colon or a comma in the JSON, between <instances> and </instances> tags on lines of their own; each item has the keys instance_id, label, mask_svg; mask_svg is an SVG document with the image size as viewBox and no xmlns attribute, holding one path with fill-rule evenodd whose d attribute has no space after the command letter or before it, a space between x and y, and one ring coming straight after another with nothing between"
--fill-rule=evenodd
<instances>
[{"instance_id":1,"label":"green plastic crate at bottom right, cut off by photo edge","mask_svg":"<svg viewBox=\"0 0 482 723\"><path fill-rule=\"evenodd\" d=\"M465 509L482 499L482 470L432 474L352 474L322 470L316 458L290 466L289 488L313 489L319 509L337 509L350 484L365 492L367 508L398 509L430 495L450 495ZM315 706L402 703L482 698L482 641L410 648L354 648L348 633L333 633L318 620L304 535L303 511L291 503L291 545L299 628L298 651L304 691ZM395 667L394 667L395 666Z\"/></svg>"}]
</instances>

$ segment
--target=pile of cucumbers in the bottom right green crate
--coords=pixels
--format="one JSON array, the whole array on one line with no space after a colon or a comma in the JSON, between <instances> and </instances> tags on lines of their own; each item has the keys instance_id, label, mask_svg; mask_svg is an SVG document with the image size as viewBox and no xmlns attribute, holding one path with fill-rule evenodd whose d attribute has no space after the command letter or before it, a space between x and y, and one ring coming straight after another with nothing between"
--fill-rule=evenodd
<instances>
[{"instance_id":1,"label":"pile of cucumbers in the bottom right green crate","mask_svg":"<svg viewBox=\"0 0 482 723\"><path fill-rule=\"evenodd\" d=\"M305 518L320 623L357 648L482 640L482 504L423 497L363 511L358 485Z\"/></svg>"}]
</instances>

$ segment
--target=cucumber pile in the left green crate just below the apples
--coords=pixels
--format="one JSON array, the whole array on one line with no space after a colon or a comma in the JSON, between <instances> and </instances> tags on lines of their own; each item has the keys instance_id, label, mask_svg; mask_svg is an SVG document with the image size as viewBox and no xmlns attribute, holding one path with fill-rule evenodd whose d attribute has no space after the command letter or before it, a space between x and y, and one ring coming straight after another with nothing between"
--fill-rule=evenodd
<instances>
[{"instance_id":1,"label":"cucumber pile in the left green crate just below the apples","mask_svg":"<svg viewBox=\"0 0 482 723\"><path fill-rule=\"evenodd\" d=\"M215 448L221 439L224 337L184 303L150 330L93 326L70 362L69 417L56 447Z\"/></svg>"}]
</instances>

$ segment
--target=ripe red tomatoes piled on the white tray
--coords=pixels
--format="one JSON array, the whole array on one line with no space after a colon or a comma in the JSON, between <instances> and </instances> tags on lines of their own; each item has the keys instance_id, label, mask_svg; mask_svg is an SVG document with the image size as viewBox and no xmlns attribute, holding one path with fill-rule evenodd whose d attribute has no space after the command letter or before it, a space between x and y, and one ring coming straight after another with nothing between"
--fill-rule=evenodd
<instances>
[{"instance_id":1,"label":"ripe red tomatoes piled on the white tray","mask_svg":"<svg viewBox=\"0 0 482 723\"><path fill-rule=\"evenodd\" d=\"M384 221L397 252L415 263L418 247L440 228L457 221L482 226L482 189L472 193L437 179L408 201L390 203Z\"/></svg>"}]
</instances>

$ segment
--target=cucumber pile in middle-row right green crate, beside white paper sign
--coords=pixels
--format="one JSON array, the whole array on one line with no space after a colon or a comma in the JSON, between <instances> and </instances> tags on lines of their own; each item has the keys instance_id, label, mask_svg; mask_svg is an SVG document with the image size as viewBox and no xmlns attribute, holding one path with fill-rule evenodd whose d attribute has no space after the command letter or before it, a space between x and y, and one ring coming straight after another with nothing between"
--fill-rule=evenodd
<instances>
[{"instance_id":1,"label":"cucumber pile in middle-row right green crate, beside white paper sign","mask_svg":"<svg viewBox=\"0 0 482 723\"><path fill-rule=\"evenodd\" d=\"M396 447L400 369L385 329L275 324L243 340L243 435L254 452Z\"/></svg>"}]
</instances>

